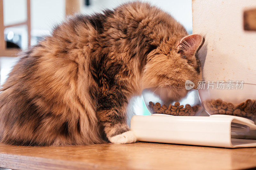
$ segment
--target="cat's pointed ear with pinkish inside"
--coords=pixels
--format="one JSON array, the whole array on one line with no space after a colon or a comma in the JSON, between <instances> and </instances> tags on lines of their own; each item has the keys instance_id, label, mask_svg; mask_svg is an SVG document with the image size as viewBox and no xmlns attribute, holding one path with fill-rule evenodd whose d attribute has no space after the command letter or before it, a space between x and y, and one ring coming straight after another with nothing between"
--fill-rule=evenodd
<instances>
[{"instance_id":1,"label":"cat's pointed ear with pinkish inside","mask_svg":"<svg viewBox=\"0 0 256 170\"><path fill-rule=\"evenodd\" d=\"M184 53L186 56L195 55L196 52L202 47L204 44L204 37L199 34L192 34L186 37L183 37L178 46L178 53Z\"/></svg>"}]
</instances>

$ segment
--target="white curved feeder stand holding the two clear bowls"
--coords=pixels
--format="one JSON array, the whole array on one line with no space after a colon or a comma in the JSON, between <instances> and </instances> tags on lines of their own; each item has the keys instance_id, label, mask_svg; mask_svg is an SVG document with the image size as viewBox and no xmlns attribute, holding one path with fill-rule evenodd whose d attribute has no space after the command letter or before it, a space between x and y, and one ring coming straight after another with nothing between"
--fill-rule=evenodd
<instances>
[{"instance_id":1,"label":"white curved feeder stand holding the two clear bowls","mask_svg":"<svg viewBox=\"0 0 256 170\"><path fill-rule=\"evenodd\" d=\"M135 115L131 130L139 141L225 148L256 147L256 140L241 139L255 130L253 121L231 115Z\"/></svg>"}]
</instances>

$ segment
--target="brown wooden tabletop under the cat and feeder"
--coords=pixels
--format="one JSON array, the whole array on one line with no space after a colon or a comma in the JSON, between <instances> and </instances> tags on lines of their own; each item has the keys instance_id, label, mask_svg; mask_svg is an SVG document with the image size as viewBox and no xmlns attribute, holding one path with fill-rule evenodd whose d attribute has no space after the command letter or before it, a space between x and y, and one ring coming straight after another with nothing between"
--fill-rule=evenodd
<instances>
[{"instance_id":1,"label":"brown wooden tabletop under the cat and feeder","mask_svg":"<svg viewBox=\"0 0 256 170\"><path fill-rule=\"evenodd\" d=\"M0 145L0 167L12 169L246 169L256 148L135 143L25 147Z\"/></svg>"}]
</instances>

